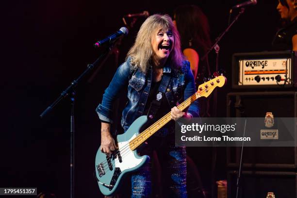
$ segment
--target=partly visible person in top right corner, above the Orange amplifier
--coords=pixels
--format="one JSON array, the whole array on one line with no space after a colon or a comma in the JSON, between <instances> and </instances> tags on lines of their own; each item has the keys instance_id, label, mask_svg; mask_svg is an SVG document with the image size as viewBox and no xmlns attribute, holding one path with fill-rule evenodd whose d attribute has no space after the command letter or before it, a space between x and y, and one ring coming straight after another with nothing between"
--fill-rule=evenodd
<instances>
[{"instance_id":1,"label":"partly visible person in top right corner, above the Orange amplifier","mask_svg":"<svg viewBox=\"0 0 297 198\"><path fill-rule=\"evenodd\" d=\"M272 42L274 50L297 51L297 2L296 0L279 0L277 10L285 26L280 29Z\"/></svg>"}]
</instances>

